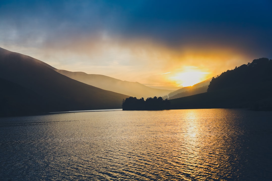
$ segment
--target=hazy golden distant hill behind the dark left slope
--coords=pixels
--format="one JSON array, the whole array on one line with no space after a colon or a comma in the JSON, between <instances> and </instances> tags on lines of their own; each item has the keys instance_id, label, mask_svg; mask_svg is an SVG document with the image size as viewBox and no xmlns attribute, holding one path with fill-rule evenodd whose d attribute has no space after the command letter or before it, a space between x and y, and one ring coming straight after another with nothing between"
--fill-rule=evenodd
<instances>
[{"instance_id":1,"label":"hazy golden distant hill behind the dark left slope","mask_svg":"<svg viewBox=\"0 0 272 181\"><path fill-rule=\"evenodd\" d=\"M108 77L99 74L86 74L84 72L70 72L66 70L55 69L55 71L70 77L74 80L83 82L94 87L98 87L104 90L113 91L120 94L129 95L132 97L148 98L148 97L163 97L167 96L172 90L162 90L151 88L146 85L140 84L139 82L129 82Z\"/></svg>"}]
</instances>

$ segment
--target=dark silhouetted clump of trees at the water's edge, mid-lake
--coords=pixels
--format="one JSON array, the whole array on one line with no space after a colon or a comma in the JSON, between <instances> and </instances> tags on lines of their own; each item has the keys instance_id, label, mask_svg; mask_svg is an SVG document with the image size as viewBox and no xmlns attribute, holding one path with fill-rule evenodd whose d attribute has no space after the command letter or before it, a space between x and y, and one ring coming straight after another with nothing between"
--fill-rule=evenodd
<instances>
[{"instance_id":1,"label":"dark silhouetted clump of trees at the water's edge, mid-lake","mask_svg":"<svg viewBox=\"0 0 272 181\"><path fill-rule=\"evenodd\" d=\"M170 101L156 96L149 97L146 100L143 97L141 99L128 97L123 100L122 108L123 110L165 110L170 109Z\"/></svg>"}]
</instances>

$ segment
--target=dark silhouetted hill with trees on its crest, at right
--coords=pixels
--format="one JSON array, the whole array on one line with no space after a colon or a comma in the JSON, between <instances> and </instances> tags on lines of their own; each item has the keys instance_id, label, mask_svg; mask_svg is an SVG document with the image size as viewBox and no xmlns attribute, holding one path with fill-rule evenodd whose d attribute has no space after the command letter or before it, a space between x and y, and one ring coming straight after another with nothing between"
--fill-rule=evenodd
<instances>
[{"instance_id":1,"label":"dark silhouetted hill with trees on its crest, at right","mask_svg":"<svg viewBox=\"0 0 272 181\"><path fill-rule=\"evenodd\" d=\"M171 109L247 108L272 110L272 60L255 59L212 78L208 91L172 99Z\"/></svg>"}]
</instances>

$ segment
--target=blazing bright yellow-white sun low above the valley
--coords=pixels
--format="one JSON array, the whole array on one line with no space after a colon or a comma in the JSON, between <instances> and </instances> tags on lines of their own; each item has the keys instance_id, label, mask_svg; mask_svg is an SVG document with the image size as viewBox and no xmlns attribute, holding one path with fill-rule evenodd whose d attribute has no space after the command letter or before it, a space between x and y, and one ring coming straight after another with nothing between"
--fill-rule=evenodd
<instances>
[{"instance_id":1,"label":"blazing bright yellow-white sun low above the valley","mask_svg":"<svg viewBox=\"0 0 272 181\"><path fill-rule=\"evenodd\" d=\"M176 73L174 76L170 77L170 80L176 82L178 86L187 87L206 80L208 74L209 72L187 70Z\"/></svg>"}]
</instances>

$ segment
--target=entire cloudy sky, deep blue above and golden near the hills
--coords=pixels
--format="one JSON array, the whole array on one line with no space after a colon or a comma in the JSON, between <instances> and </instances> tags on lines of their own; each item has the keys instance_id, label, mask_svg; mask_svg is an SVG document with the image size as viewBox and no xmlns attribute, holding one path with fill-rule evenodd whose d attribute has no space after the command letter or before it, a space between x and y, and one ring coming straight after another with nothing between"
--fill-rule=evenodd
<instances>
[{"instance_id":1,"label":"entire cloudy sky, deep blue above and golden near the hills","mask_svg":"<svg viewBox=\"0 0 272 181\"><path fill-rule=\"evenodd\" d=\"M272 1L0 2L0 47L57 69L189 86L272 59Z\"/></svg>"}]
</instances>

